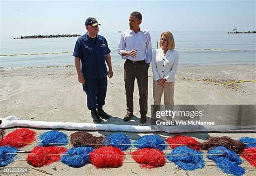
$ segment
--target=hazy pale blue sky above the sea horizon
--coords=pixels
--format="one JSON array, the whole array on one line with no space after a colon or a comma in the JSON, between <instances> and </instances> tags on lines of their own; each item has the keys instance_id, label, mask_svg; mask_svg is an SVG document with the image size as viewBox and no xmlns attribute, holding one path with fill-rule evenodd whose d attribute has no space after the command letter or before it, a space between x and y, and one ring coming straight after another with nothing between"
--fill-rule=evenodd
<instances>
[{"instance_id":1,"label":"hazy pale blue sky above the sea horizon","mask_svg":"<svg viewBox=\"0 0 256 176\"><path fill-rule=\"evenodd\" d=\"M100 32L129 29L132 11L149 31L256 30L255 1L1 1L1 35L85 33L87 17Z\"/></svg>"}]
</instances>

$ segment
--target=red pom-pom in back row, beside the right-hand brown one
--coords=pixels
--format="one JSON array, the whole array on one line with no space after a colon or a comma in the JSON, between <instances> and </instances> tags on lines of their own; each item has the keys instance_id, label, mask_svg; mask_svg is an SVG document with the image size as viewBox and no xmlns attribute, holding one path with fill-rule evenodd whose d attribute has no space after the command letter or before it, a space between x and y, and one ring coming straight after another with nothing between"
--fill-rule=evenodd
<instances>
[{"instance_id":1,"label":"red pom-pom in back row, beside the right-hand brown one","mask_svg":"<svg viewBox=\"0 0 256 176\"><path fill-rule=\"evenodd\" d=\"M179 147L181 146L181 144L183 144L195 150L201 150L200 143L192 137L176 135L174 137L166 138L166 143L168 143L171 148Z\"/></svg>"}]
</instances>

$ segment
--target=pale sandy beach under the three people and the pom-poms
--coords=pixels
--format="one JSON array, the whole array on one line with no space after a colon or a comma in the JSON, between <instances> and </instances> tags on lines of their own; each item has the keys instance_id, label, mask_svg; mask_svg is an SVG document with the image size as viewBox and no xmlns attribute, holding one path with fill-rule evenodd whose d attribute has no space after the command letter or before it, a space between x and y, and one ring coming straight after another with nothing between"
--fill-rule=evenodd
<instances>
[{"instance_id":1,"label":"pale sandy beach under the three people and the pom-poms","mask_svg":"<svg viewBox=\"0 0 256 176\"><path fill-rule=\"evenodd\" d=\"M123 116L126 112L126 100L124 89L123 66L113 66L114 76L108 79L106 104L104 110L111 114L109 120L103 124L126 124L142 125L139 123L139 94L137 82L134 88L134 115L130 121L124 122ZM175 104L195 105L232 105L256 104L256 83L242 82L231 85L224 85L227 82L239 80L255 80L255 65L211 65L211 66L179 66L174 89ZM86 106L86 94L82 85L78 82L75 67L41 67L24 69L0 69L0 112L5 118L14 115L26 120L44 121L71 121L76 123L93 123L90 111ZM149 112L153 104L152 93L152 71L149 69ZM228 97L228 98L227 98ZM162 98L163 102L163 98ZM144 125L144 124L143 124ZM145 125L150 125L150 118ZM6 133L15 128L5 130ZM37 136L50 129L34 129ZM63 130L70 136L74 131ZM96 136L106 135L111 132L92 131ZM132 140L150 133L129 133ZM160 137L174 136L174 134L157 132ZM244 133L184 133L184 136L191 136L198 141L207 140L209 137L229 136L233 139L240 137L256 138L254 132ZM31 150L33 145L26 147ZM71 146L69 146L70 148ZM129 152L129 151L127 151ZM127 153L126 152L126 153ZM25 161L25 155L19 155L18 159L8 167L29 167L29 173L22 175L42 175L42 172L32 170ZM244 160L244 159L243 159ZM185 172L179 170L173 163L166 163L164 167L145 170L139 164L132 162L129 156L124 160L124 165L119 168L97 169L91 164L81 168L71 168L60 162L39 168L53 175L226 175L221 172L215 163L205 159L206 166L201 170ZM256 169L248 164L246 160L241 165L246 168L246 175L253 175ZM56 169L55 169L56 168Z\"/></svg>"}]
</instances>

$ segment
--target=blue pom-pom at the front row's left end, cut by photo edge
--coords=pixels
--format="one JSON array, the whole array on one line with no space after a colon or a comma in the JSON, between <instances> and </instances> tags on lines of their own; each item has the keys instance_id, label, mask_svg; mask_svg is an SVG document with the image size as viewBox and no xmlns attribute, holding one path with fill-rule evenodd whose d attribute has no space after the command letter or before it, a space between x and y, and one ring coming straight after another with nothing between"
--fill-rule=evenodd
<instances>
[{"instance_id":1,"label":"blue pom-pom at the front row's left end, cut by photo edge","mask_svg":"<svg viewBox=\"0 0 256 176\"><path fill-rule=\"evenodd\" d=\"M8 153L17 153L18 149L10 146L0 147L0 167L4 167L14 161L16 154Z\"/></svg>"}]
</instances>

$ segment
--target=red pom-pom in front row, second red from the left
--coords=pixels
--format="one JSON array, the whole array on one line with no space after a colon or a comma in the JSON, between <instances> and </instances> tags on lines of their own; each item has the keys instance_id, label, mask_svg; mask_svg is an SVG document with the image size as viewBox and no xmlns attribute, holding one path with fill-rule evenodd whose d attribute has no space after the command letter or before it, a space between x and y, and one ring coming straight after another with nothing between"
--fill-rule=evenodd
<instances>
[{"instance_id":1,"label":"red pom-pom in front row, second red from the left","mask_svg":"<svg viewBox=\"0 0 256 176\"><path fill-rule=\"evenodd\" d=\"M96 168L112 168L123 165L125 153L117 147L104 146L89 153L89 156Z\"/></svg>"}]
</instances>

